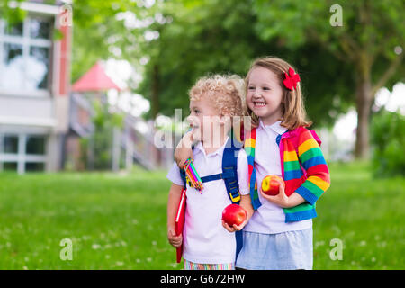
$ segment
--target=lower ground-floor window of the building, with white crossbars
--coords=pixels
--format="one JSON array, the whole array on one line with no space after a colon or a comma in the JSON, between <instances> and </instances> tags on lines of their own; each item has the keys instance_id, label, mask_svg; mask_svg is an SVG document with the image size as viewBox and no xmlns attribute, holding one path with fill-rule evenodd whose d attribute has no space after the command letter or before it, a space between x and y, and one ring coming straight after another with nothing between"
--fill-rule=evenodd
<instances>
[{"instance_id":1,"label":"lower ground-floor window of the building, with white crossbars","mask_svg":"<svg viewBox=\"0 0 405 288\"><path fill-rule=\"evenodd\" d=\"M44 171L46 145L45 135L0 134L0 171Z\"/></svg>"}]
</instances>

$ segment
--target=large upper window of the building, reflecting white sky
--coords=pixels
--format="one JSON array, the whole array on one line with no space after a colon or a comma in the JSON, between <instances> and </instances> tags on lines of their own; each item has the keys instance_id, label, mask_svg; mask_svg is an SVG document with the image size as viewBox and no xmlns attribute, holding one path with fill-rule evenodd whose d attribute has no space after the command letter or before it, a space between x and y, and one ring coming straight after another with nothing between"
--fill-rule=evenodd
<instances>
[{"instance_id":1,"label":"large upper window of the building, reflecting white sky","mask_svg":"<svg viewBox=\"0 0 405 288\"><path fill-rule=\"evenodd\" d=\"M49 90L50 18L27 16L23 23L0 20L0 91Z\"/></svg>"}]
</instances>

